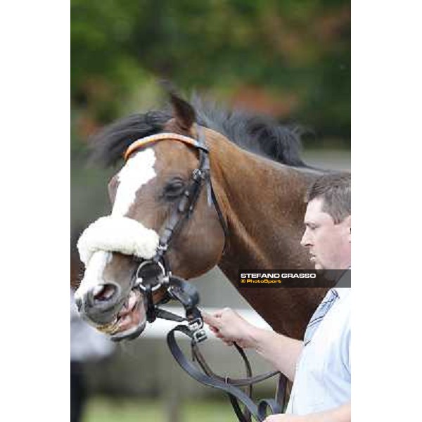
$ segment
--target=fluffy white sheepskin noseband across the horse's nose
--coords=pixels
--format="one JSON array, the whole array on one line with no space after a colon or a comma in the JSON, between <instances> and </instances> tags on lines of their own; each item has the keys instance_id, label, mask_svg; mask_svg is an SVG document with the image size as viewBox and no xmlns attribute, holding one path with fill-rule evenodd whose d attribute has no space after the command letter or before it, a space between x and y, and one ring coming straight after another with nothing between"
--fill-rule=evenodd
<instances>
[{"instance_id":1,"label":"fluffy white sheepskin noseband across the horse's nose","mask_svg":"<svg viewBox=\"0 0 422 422\"><path fill-rule=\"evenodd\" d=\"M84 230L77 242L81 261L88 264L98 250L121 252L145 260L155 255L158 234L128 217L101 217Z\"/></svg>"}]
</instances>

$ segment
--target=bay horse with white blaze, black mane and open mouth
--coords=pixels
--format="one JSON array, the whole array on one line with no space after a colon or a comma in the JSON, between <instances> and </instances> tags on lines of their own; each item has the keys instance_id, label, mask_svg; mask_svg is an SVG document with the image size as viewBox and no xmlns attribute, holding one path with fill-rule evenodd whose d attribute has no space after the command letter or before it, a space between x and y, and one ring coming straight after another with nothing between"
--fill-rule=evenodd
<instances>
[{"instance_id":1,"label":"bay horse with white blaze, black mane and open mouth","mask_svg":"<svg viewBox=\"0 0 422 422\"><path fill-rule=\"evenodd\" d=\"M110 216L79 239L86 266L75 293L79 312L111 338L143 331L146 300L133 288L134 273L139 257L148 260L159 247L198 167L193 143L202 134L215 206L207 190L200 191L167 250L172 273L191 279L218 265L274 331L301 338L328 288L241 288L238 270L314 268L300 238L305 191L323 170L301 160L297 131L267 117L219 110L199 98L192 106L174 93L170 103L169 110L126 117L94 137L94 158L106 165L142 141L110 179ZM153 300L160 300L160 291Z\"/></svg>"}]
</instances>

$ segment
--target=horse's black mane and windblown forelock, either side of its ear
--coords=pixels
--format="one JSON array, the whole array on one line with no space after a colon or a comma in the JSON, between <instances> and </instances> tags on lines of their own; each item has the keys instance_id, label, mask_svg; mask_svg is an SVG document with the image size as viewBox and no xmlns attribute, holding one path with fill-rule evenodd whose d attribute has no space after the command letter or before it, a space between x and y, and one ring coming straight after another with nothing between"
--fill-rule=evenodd
<instances>
[{"instance_id":1,"label":"horse's black mane and windblown forelock, either side of its ear","mask_svg":"<svg viewBox=\"0 0 422 422\"><path fill-rule=\"evenodd\" d=\"M284 126L262 115L217 108L198 96L191 104L201 126L214 129L241 148L286 165L306 167L300 158L298 127ZM92 158L104 165L115 164L133 141L162 132L171 118L170 110L153 110L117 120L94 136Z\"/></svg>"}]
</instances>

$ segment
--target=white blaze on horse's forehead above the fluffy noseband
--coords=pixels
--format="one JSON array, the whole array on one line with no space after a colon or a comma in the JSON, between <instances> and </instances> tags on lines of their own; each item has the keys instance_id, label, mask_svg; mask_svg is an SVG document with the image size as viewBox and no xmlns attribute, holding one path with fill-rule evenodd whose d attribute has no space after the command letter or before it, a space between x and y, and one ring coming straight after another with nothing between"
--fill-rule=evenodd
<instances>
[{"instance_id":1,"label":"white blaze on horse's forehead above the fluffy noseband","mask_svg":"<svg viewBox=\"0 0 422 422\"><path fill-rule=\"evenodd\" d=\"M126 165L117 175L119 186L111 215L126 215L134 203L136 192L152 180L156 174L154 170L155 153L152 148L136 153L127 160Z\"/></svg>"}]
</instances>

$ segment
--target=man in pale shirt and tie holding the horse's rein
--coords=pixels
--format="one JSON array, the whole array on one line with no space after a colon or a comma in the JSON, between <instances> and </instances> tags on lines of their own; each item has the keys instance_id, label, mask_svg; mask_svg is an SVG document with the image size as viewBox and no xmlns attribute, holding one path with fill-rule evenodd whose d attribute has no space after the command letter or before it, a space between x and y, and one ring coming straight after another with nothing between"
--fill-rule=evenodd
<instances>
[{"instance_id":1,"label":"man in pale shirt and tie holding the horse's rein","mask_svg":"<svg viewBox=\"0 0 422 422\"><path fill-rule=\"evenodd\" d=\"M302 246L315 269L340 269L351 262L350 174L325 174L307 192ZM231 309L204 314L227 345L250 347L283 372L293 388L286 414L265 422L347 422L350 416L350 288L328 291L312 316L303 341L252 326Z\"/></svg>"}]
</instances>

